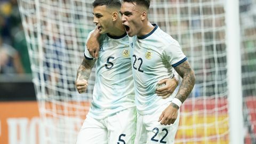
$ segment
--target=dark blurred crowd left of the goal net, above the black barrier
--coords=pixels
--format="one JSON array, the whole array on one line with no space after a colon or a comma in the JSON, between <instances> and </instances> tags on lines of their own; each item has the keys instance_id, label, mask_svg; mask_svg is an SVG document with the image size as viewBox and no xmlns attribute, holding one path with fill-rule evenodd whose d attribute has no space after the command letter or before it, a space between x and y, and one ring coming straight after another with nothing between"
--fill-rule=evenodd
<instances>
[{"instance_id":1,"label":"dark blurred crowd left of the goal net, above the black barrier","mask_svg":"<svg viewBox=\"0 0 256 144\"><path fill-rule=\"evenodd\" d=\"M31 73L17 0L0 1L0 74Z\"/></svg>"}]
</instances>

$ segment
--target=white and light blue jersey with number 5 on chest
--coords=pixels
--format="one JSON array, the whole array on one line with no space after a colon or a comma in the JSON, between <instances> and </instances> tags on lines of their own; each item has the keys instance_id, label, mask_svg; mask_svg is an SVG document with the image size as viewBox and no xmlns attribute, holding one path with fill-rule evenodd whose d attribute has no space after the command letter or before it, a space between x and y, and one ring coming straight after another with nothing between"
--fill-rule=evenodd
<instances>
[{"instance_id":1,"label":"white and light blue jersey with number 5 on chest","mask_svg":"<svg viewBox=\"0 0 256 144\"><path fill-rule=\"evenodd\" d=\"M135 107L135 103L128 36L124 34L115 37L103 34L99 38L99 43L93 100L88 115L102 119L118 111ZM84 55L88 60L93 59L87 48Z\"/></svg>"}]
</instances>

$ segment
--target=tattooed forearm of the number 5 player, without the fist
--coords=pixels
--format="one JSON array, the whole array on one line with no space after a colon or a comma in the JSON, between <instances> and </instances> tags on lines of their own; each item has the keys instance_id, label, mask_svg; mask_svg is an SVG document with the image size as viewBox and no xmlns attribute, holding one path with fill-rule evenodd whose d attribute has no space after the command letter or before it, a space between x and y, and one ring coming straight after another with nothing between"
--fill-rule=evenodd
<instances>
[{"instance_id":1,"label":"tattooed forearm of the number 5 player, without the fist","mask_svg":"<svg viewBox=\"0 0 256 144\"><path fill-rule=\"evenodd\" d=\"M87 60L84 58L83 62L77 70L76 79L88 80L92 71L92 67L97 59Z\"/></svg>"}]
</instances>

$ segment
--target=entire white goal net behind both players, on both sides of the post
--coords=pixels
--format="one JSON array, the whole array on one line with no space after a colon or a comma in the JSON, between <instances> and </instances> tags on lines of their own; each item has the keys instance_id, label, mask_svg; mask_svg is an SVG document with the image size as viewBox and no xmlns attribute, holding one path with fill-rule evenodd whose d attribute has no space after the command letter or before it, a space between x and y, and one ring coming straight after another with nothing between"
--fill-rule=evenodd
<instances>
[{"instance_id":1,"label":"entire white goal net behind both players, on both sides of the post","mask_svg":"<svg viewBox=\"0 0 256 144\"><path fill-rule=\"evenodd\" d=\"M93 1L19 0L39 111L42 143L75 143L92 100L75 89ZM245 141L256 133L256 0L240 1ZM229 143L225 1L151 0L149 19L181 44L196 84L181 107L175 143ZM254 116L254 118L253 118Z\"/></svg>"}]
</instances>

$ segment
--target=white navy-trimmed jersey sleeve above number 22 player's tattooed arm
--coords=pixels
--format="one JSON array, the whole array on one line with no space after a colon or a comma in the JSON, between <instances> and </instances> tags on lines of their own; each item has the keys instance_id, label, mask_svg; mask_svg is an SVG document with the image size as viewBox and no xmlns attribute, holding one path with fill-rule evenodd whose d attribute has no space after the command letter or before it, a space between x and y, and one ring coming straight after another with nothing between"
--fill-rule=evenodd
<instances>
[{"instance_id":1,"label":"white navy-trimmed jersey sleeve above number 22 player's tattooed arm","mask_svg":"<svg viewBox=\"0 0 256 144\"><path fill-rule=\"evenodd\" d=\"M182 52L177 41L165 47L163 57L172 65L172 67L177 67L187 60L186 55Z\"/></svg>"}]
</instances>

